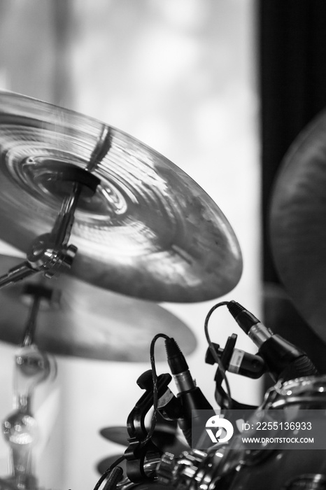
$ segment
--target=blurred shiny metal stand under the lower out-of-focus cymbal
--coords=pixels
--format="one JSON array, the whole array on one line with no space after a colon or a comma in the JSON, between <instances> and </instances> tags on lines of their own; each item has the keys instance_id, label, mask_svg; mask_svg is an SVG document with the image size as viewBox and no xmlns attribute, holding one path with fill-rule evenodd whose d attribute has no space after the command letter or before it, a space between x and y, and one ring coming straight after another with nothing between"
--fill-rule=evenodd
<instances>
[{"instance_id":1,"label":"blurred shiny metal stand under the lower out-of-focus cymbal","mask_svg":"<svg viewBox=\"0 0 326 490\"><path fill-rule=\"evenodd\" d=\"M36 490L32 449L38 440L38 428L31 412L31 402L36 385L55 374L56 366L44 351L38 349L34 333L41 300L50 300L52 291L43 286L28 285L25 294L31 295L33 300L22 344L15 354L14 410L3 421L2 430L11 449L12 475L8 482L16 489Z\"/></svg>"}]
</instances>

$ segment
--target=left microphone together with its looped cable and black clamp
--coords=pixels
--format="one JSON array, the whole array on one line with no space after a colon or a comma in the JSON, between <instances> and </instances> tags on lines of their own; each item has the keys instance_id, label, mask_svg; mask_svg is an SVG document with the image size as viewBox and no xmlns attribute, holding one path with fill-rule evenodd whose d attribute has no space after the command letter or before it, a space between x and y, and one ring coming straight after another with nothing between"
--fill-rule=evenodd
<instances>
[{"instance_id":1,"label":"left microphone together with its looped cable and black clamp","mask_svg":"<svg viewBox=\"0 0 326 490\"><path fill-rule=\"evenodd\" d=\"M168 363L179 389L178 397L174 396L168 388L172 379L171 374L160 374L158 377L156 375L154 344L159 337L164 337L165 339ZM186 425L189 421L188 419L190 419L191 423L191 409L199 409L200 403L204 403L206 408L207 405L211 407L199 388L194 386L183 353L181 353L174 339L164 334L156 335L151 344L150 359L152 370L144 372L137 380L137 384L146 391L136 402L127 419L129 447L126 449L124 457L126 459L127 477L129 481L134 483L153 479L153 474L148 475L144 465L149 461L155 460L156 468L157 461L160 461L160 456L163 454L163 451L158 447L161 444L157 446L153 442L157 410L165 419L181 421L179 425L186 436L190 433L190 428ZM145 417L152 406L154 407L152 426L150 430L147 430ZM101 481L104 481L104 475L101 478ZM99 482L97 485L99 485Z\"/></svg>"}]
</instances>

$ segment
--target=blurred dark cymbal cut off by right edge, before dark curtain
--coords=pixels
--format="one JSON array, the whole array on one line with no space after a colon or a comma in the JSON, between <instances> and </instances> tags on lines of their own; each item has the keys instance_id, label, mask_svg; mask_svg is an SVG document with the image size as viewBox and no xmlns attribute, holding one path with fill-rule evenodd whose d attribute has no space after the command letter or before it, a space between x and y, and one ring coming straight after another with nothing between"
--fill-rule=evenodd
<instances>
[{"instance_id":1,"label":"blurred dark cymbal cut off by right edge, before dark curtain","mask_svg":"<svg viewBox=\"0 0 326 490\"><path fill-rule=\"evenodd\" d=\"M271 202L271 248L295 307L326 342L326 113L285 156Z\"/></svg>"}]
</instances>

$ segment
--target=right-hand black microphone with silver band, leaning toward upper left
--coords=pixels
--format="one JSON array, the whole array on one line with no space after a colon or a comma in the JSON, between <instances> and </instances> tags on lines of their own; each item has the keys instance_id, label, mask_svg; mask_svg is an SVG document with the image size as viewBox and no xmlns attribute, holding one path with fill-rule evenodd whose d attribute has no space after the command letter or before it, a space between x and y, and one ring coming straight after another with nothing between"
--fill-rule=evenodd
<instances>
[{"instance_id":1,"label":"right-hand black microphone with silver band, leaning toward upper left","mask_svg":"<svg viewBox=\"0 0 326 490\"><path fill-rule=\"evenodd\" d=\"M230 301L227 308L236 323L259 348L258 353L264 359L274 381L288 381L318 374L304 351L283 339L281 335L274 334L241 304Z\"/></svg>"}]
</instances>

